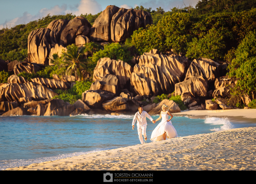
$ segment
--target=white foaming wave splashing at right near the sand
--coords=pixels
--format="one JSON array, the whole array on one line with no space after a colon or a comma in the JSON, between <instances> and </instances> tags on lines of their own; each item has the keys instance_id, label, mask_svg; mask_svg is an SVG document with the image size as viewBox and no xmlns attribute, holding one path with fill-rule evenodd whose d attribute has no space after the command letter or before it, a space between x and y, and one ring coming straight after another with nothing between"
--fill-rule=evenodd
<instances>
[{"instance_id":1,"label":"white foaming wave splashing at right near the sand","mask_svg":"<svg viewBox=\"0 0 256 184\"><path fill-rule=\"evenodd\" d=\"M228 118L219 117L207 117L205 119L206 124L221 125L220 127L212 128L211 131L218 132L234 128L234 125L229 121Z\"/></svg>"}]
</instances>

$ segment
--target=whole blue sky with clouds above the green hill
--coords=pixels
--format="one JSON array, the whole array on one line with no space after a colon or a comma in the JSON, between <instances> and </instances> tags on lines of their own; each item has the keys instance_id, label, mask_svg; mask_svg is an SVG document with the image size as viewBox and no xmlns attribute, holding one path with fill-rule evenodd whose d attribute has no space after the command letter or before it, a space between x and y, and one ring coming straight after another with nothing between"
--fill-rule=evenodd
<instances>
[{"instance_id":1,"label":"whole blue sky with clouds above the green hill","mask_svg":"<svg viewBox=\"0 0 256 184\"><path fill-rule=\"evenodd\" d=\"M143 6L155 10L162 7L169 11L173 7L195 7L199 0L0 0L0 29L27 24L30 21L50 15L66 15L72 13L97 14L108 5L122 8Z\"/></svg>"}]
</instances>

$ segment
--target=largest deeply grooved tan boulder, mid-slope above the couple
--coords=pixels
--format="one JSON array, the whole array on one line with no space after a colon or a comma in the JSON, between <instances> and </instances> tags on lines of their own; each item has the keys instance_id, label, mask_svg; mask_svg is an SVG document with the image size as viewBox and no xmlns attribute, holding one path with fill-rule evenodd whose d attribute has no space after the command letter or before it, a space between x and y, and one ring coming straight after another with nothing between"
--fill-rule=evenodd
<instances>
[{"instance_id":1,"label":"largest deeply grooved tan boulder, mid-slope above the couple","mask_svg":"<svg viewBox=\"0 0 256 184\"><path fill-rule=\"evenodd\" d=\"M139 95L169 93L184 79L187 64L185 57L145 52L133 68L131 86Z\"/></svg>"}]
</instances>

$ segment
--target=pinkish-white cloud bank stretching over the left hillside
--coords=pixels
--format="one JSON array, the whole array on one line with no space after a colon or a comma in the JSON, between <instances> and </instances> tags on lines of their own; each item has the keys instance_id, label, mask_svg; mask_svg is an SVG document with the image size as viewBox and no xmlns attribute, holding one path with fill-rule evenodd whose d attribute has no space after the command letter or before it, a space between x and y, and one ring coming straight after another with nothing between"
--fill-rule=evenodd
<instances>
[{"instance_id":1,"label":"pinkish-white cloud bank stretching over the left hillside","mask_svg":"<svg viewBox=\"0 0 256 184\"><path fill-rule=\"evenodd\" d=\"M38 20L39 18L45 17L48 14L52 15L66 15L67 13L72 13L73 15L79 16L81 14L92 14L95 15L102 11L101 5L95 0L81 0L80 4L76 4L67 8L66 4L62 6L56 5L50 9L42 8L36 15L31 15L27 12L23 13L22 17L16 17L10 21L5 21L5 23L0 25L0 29L5 27L14 27L19 24L27 24L30 21Z\"/></svg>"}]
</instances>

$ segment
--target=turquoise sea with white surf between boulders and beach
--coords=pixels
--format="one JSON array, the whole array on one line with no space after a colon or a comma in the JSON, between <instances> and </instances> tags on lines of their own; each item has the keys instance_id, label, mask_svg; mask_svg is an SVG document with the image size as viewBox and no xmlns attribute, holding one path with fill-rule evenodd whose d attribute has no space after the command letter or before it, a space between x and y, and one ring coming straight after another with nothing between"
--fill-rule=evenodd
<instances>
[{"instance_id":1,"label":"turquoise sea with white surf between boulders and beach","mask_svg":"<svg viewBox=\"0 0 256 184\"><path fill-rule=\"evenodd\" d=\"M140 144L136 125L132 130L132 119L132 114L0 117L0 170ZM150 143L160 121L147 122L145 143ZM218 117L174 116L172 124L179 137L256 127L256 122Z\"/></svg>"}]
</instances>

